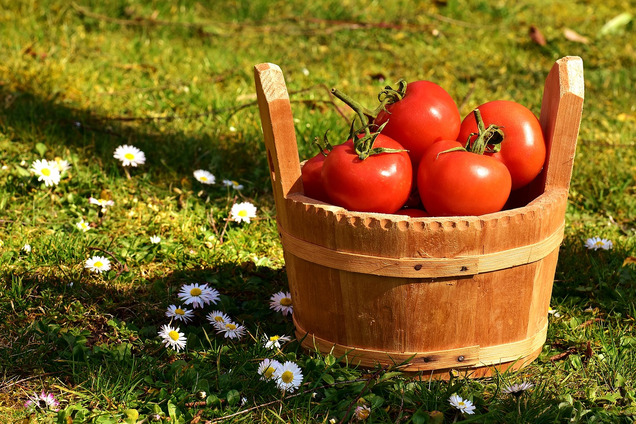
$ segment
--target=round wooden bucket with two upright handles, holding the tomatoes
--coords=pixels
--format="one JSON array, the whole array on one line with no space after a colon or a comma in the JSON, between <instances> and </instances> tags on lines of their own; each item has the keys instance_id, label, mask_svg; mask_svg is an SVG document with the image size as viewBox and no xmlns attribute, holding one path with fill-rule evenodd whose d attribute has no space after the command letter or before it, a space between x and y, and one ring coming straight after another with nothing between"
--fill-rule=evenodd
<instances>
[{"instance_id":1,"label":"round wooden bucket with two upright handles, holding the tomatoes","mask_svg":"<svg viewBox=\"0 0 636 424\"><path fill-rule=\"evenodd\" d=\"M256 93L293 299L307 350L363 367L448 378L520 369L546 340L583 108L583 62L557 60L541 104L548 154L523 208L410 218L350 212L303 195L280 67L255 66Z\"/></svg>"}]
</instances>

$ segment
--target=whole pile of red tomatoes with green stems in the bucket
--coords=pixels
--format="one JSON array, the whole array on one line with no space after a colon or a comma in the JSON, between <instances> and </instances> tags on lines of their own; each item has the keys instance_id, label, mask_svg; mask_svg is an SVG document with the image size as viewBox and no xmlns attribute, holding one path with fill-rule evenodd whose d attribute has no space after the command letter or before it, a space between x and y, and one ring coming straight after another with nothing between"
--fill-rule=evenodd
<instances>
[{"instance_id":1,"label":"whole pile of red tomatoes with green stems in the bucket","mask_svg":"<svg viewBox=\"0 0 636 424\"><path fill-rule=\"evenodd\" d=\"M467 216L501 211L511 192L537 178L546 158L539 120L512 101L490 101L464 120L452 97L431 81L385 87L369 110L339 90L356 111L345 143L302 167L305 195L350 211L407 216Z\"/></svg>"}]
</instances>

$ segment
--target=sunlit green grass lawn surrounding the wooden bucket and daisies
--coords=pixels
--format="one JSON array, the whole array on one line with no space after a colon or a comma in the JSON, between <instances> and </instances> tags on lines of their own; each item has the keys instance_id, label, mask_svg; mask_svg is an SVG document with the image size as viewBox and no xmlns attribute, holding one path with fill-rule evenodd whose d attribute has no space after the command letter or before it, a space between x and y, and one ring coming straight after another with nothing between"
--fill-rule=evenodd
<instances>
[{"instance_id":1,"label":"sunlit green grass lawn surrounding the wooden bucket and daisies","mask_svg":"<svg viewBox=\"0 0 636 424\"><path fill-rule=\"evenodd\" d=\"M623 262L636 250L633 22L598 35L625 11L614 0L567 8L543 0L4 4L1 421L137 423L158 413L158 422L172 423L346 422L366 404L374 422L632 422L636 271ZM529 38L533 24L546 46ZM569 41L565 27L589 43ZM560 316L551 316L536 362L490 379L429 382L347 367L293 341L276 358L300 365L301 390L284 397L260 381L258 364L273 353L257 342L292 335L293 323L268 307L287 281L254 64L282 67L307 159L315 136L349 128L325 87L370 104L401 77L429 79L462 117L492 99L538 114L547 71L570 54L583 58L586 100L553 289ZM130 180L112 157L122 144L147 156ZM60 185L43 187L27 169L54 157L72 168ZM201 185L195 169L244 188ZM105 214L88 203L100 195L115 202ZM224 232L240 201L256 204L258 218L228 222ZM97 227L79 232L80 218ZM150 243L153 235L162 242ZM614 248L586 250L593 236ZM29 254L20 251L25 243ZM113 271L89 274L83 263L96 254L125 268L113 261ZM162 348L165 310L194 282L218 288L218 309L250 334L216 336L200 314L181 325L186 351ZM535 387L519 398L501 393L523 380ZM27 413L27 397L41 390L60 400L59 413ZM473 401L476 414L458 416L452 393Z\"/></svg>"}]
</instances>

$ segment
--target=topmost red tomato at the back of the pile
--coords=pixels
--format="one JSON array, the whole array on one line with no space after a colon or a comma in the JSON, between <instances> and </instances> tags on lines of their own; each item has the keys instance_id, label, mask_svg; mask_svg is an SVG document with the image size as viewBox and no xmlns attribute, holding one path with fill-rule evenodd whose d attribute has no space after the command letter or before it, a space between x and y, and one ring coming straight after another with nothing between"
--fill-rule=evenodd
<instances>
[{"instance_id":1,"label":"topmost red tomato at the back of the pile","mask_svg":"<svg viewBox=\"0 0 636 424\"><path fill-rule=\"evenodd\" d=\"M408 150L414 174L424 151L435 141L454 140L459 134L461 117L450 94L431 81L413 81L406 85L404 97L380 111L374 123L387 122L382 134Z\"/></svg>"}]
</instances>

